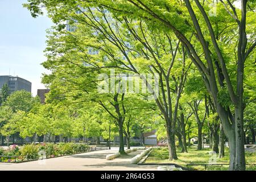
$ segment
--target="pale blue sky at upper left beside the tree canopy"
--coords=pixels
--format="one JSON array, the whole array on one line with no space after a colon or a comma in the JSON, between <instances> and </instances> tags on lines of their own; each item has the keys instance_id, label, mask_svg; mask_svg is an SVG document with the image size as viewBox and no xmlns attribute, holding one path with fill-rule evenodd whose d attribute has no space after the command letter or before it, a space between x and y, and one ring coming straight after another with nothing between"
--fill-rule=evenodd
<instances>
[{"instance_id":1,"label":"pale blue sky at upper left beside the tree canopy","mask_svg":"<svg viewBox=\"0 0 256 182\"><path fill-rule=\"evenodd\" d=\"M0 75L19 76L32 82L32 93L43 89L40 65L46 60L46 29L52 26L47 16L32 18L22 7L26 0L0 0Z\"/></svg>"}]
</instances>

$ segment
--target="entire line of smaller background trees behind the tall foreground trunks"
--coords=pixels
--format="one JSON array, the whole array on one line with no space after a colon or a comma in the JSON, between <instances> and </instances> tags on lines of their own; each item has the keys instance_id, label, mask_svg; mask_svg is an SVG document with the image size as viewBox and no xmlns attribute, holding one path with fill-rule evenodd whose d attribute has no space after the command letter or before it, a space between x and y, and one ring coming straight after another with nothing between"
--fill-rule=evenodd
<instances>
[{"instance_id":1,"label":"entire line of smaller background trees behind the tall foreground trunks","mask_svg":"<svg viewBox=\"0 0 256 182\"><path fill-rule=\"evenodd\" d=\"M1 96L5 95L4 93L6 90L8 91L8 88L5 85L1 90ZM2 102L3 104L0 107L2 144L3 137L6 137L8 144L10 136L13 136L14 139L14 136L18 135L22 138L31 137L31 141L36 141L38 137L46 136L45 141L49 142L51 142L50 138L52 135L62 135L63 137L83 137L84 142L86 137L103 136L105 139L109 139L109 137L110 139L113 139L115 135L118 135L118 123L112 122L113 118L110 117L109 113L103 113L102 115L102 111L104 110L100 107L96 108L93 105L90 105L88 108L97 110L97 113L92 114L93 111L89 111L87 107L85 110L84 106L79 106L81 109L78 109L78 107L63 107L63 105L68 105L72 102L62 104L62 106L59 104L55 106L53 106L53 104L40 105L38 97L33 98L30 93L23 90L13 93L10 97L8 95L9 94L7 94L5 99L6 101ZM191 95L189 95L189 97L191 97ZM200 144L200 139L202 139L203 136L208 136L207 142L210 143L210 147L213 148L213 151L218 153L219 126L216 119L213 120L211 118L216 117L216 115L208 115L207 118L205 118L204 115L204 120L206 120L208 124L203 121L204 123L199 127L200 124L195 122L191 116L193 112L197 113L200 111L198 107L201 100L197 101L196 97L191 100L184 96L183 99L184 100L181 100L179 107L180 117L178 118L176 133L179 141L178 146L181 147L181 151L187 152L187 145L189 146L191 143L191 137L199 138L198 149L200 150L203 146L202 143ZM197 102L197 105L194 105L196 109L193 108L194 106L191 106L192 103L195 104L195 102ZM88 106L88 103L86 103L86 106ZM252 107L248 108L253 110ZM184 116L184 110L189 110L187 117ZM109 112L109 110L106 111ZM166 138L164 134L165 132L163 131L164 129L162 129L162 125L159 125L159 122L155 122L153 125L146 122L147 120L145 117L148 117L150 113L152 113L152 111L144 113L144 115L140 115L140 118L138 118L138 116L132 116L133 114L138 115L138 110L135 110L132 115L129 115L129 121L125 123L123 130L123 134L127 138L127 147L130 148L131 136L143 136L144 131L150 131L152 129L158 129L159 139ZM253 111L250 111L249 117L252 116L252 113ZM195 117L196 116L198 117L196 119L203 117L202 114L197 114ZM153 117L154 115L152 115L151 119L153 119ZM137 123L134 123L134 121ZM155 118L155 121L159 121L159 118ZM212 123L212 121L215 122ZM253 136L254 126L252 121L253 120L249 119L249 121L246 122L245 134L249 134L252 138L255 138ZM198 130L196 128L198 128ZM222 142L220 143L220 146L222 147L224 146L225 137L221 140L221 136L222 133L220 133L220 142ZM221 148L220 156L224 156L224 147Z\"/></svg>"}]
</instances>

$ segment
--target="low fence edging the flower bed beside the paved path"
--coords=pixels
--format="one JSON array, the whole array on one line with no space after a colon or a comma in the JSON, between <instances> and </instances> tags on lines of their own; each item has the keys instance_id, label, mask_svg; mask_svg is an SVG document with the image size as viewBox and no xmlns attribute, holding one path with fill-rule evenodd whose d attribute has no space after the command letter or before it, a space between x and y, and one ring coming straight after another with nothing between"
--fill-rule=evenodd
<instances>
[{"instance_id":1,"label":"low fence edging the flower bed beside the paved path","mask_svg":"<svg viewBox=\"0 0 256 182\"><path fill-rule=\"evenodd\" d=\"M54 152L47 154L47 152L45 153L46 155L43 156L39 156L38 158L35 159L27 159L27 156L23 156L23 155L17 155L17 156L8 156L8 155L0 155L0 162L1 163L21 163L21 162L29 162L29 161L33 161L33 160L39 160L39 159L49 159L49 158L57 158L60 156L67 156L67 155L75 155L75 154L82 154L82 153L86 153L86 152L92 152L92 151L100 151L100 150L108 150L108 147L89 147L86 148L85 150L81 150L81 151L77 151L77 152ZM44 158L42 158L44 157Z\"/></svg>"}]
</instances>

